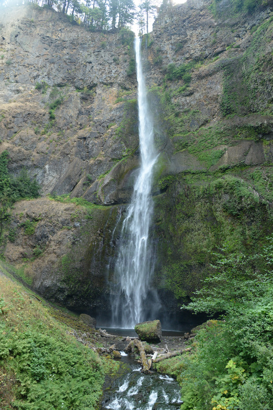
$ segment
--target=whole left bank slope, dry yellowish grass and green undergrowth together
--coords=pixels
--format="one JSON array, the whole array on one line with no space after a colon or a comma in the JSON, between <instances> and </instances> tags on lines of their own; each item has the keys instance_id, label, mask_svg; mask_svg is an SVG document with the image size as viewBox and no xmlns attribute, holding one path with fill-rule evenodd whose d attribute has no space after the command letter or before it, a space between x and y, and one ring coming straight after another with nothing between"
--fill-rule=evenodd
<instances>
[{"instance_id":1,"label":"whole left bank slope, dry yellowish grass and green undergrowth together","mask_svg":"<svg viewBox=\"0 0 273 410\"><path fill-rule=\"evenodd\" d=\"M47 307L4 276L0 281L1 408L95 409L105 362Z\"/></svg>"}]
</instances>

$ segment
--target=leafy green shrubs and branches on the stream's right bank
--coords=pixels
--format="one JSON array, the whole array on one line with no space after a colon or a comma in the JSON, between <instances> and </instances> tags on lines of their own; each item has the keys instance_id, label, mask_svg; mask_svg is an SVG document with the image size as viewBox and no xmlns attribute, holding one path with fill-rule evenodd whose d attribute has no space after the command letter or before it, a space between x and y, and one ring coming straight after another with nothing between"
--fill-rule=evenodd
<instances>
[{"instance_id":1,"label":"leafy green shrubs and branches on the stream's right bank","mask_svg":"<svg viewBox=\"0 0 273 410\"><path fill-rule=\"evenodd\" d=\"M182 410L269 410L273 406L273 237L261 252L213 255L213 271L185 309L224 312L200 330L194 354L182 360Z\"/></svg>"}]
</instances>

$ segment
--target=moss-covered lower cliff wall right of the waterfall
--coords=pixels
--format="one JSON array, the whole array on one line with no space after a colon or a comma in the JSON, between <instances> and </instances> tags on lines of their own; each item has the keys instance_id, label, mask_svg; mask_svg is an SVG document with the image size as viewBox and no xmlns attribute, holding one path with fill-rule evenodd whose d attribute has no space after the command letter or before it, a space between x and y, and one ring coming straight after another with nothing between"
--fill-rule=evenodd
<instances>
[{"instance_id":1,"label":"moss-covered lower cliff wall right of the waterfall","mask_svg":"<svg viewBox=\"0 0 273 410\"><path fill-rule=\"evenodd\" d=\"M186 300L211 272L213 251L223 243L233 251L259 250L272 231L272 172L271 167L243 166L160 180L167 190L154 198L159 288Z\"/></svg>"}]
</instances>

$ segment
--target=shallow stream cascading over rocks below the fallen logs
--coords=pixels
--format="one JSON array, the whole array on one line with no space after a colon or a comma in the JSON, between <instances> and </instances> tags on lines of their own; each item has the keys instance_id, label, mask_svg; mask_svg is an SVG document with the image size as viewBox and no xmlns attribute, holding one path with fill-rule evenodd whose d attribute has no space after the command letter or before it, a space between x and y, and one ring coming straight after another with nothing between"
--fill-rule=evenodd
<instances>
[{"instance_id":1,"label":"shallow stream cascading over rocks below the fallen logs","mask_svg":"<svg viewBox=\"0 0 273 410\"><path fill-rule=\"evenodd\" d=\"M124 353L120 361L119 372L104 383L100 410L180 409L180 386L175 379L157 372L143 374L140 364Z\"/></svg>"}]
</instances>

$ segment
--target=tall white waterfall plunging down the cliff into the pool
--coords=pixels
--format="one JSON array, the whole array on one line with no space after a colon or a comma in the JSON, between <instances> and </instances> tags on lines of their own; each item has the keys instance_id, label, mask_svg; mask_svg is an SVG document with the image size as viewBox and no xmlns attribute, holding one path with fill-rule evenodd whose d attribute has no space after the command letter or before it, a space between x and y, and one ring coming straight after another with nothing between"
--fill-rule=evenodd
<instances>
[{"instance_id":1,"label":"tall white waterfall plunging down the cliff into the pool","mask_svg":"<svg viewBox=\"0 0 273 410\"><path fill-rule=\"evenodd\" d=\"M140 169L128 214L122 225L122 243L115 265L119 297L116 297L113 303L113 324L128 328L143 320L143 304L154 270L149 227L153 213L152 177L157 154L154 149L153 121L146 96L140 51L141 40L136 37Z\"/></svg>"}]
</instances>

